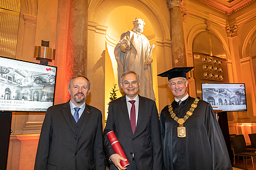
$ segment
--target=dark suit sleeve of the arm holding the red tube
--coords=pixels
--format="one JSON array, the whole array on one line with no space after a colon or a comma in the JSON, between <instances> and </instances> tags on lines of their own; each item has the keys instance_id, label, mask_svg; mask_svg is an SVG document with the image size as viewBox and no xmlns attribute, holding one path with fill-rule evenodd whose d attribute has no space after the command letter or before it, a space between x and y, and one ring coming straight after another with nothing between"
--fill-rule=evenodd
<instances>
[{"instance_id":1,"label":"dark suit sleeve of the arm holding the red tube","mask_svg":"<svg viewBox=\"0 0 256 170\"><path fill-rule=\"evenodd\" d=\"M107 158L109 158L113 154L116 154L116 152L114 152L114 149L112 148L109 142L109 138L107 138L107 133L109 133L110 131L114 131L114 118L113 118L113 109L112 109L111 102L109 104L109 115L107 116L107 124L103 132L104 149L105 149Z\"/></svg>"}]
</instances>

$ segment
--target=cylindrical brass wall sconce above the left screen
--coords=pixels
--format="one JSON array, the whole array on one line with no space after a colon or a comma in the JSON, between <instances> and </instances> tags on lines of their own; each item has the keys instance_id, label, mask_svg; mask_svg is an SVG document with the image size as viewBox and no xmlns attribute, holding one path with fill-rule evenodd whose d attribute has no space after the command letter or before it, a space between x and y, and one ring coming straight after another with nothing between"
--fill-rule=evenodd
<instances>
[{"instance_id":1,"label":"cylindrical brass wall sconce above the left screen","mask_svg":"<svg viewBox=\"0 0 256 170\"><path fill-rule=\"evenodd\" d=\"M34 58L40 60L41 64L48 65L48 61L55 59L55 49L49 48L50 41L43 41L41 46L35 46Z\"/></svg>"}]
</instances>

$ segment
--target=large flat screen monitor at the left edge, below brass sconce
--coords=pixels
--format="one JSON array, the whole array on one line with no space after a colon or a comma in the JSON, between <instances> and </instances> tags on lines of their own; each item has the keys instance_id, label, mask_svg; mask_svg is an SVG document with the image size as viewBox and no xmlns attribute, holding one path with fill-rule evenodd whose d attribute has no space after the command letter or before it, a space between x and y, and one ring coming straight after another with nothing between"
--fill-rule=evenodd
<instances>
[{"instance_id":1,"label":"large flat screen monitor at the left edge, below brass sconce","mask_svg":"<svg viewBox=\"0 0 256 170\"><path fill-rule=\"evenodd\" d=\"M0 56L0 111L45 112L54 104L57 67Z\"/></svg>"}]
</instances>

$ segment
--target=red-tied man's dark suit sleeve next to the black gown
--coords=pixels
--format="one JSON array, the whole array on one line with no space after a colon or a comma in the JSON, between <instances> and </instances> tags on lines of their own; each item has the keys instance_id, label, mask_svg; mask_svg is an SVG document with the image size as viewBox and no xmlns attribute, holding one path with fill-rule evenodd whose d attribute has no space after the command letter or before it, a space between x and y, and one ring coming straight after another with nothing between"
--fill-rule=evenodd
<instances>
[{"instance_id":1,"label":"red-tied man's dark suit sleeve next to the black gown","mask_svg":"<svg viewBox=\"0 0 256 170\"><path fill-rule=\"evenodd\" d=\"M151 131L151 140L153 145L153 169L160 170L163 167L162 142L161 142L161 136L160 136L159 118L158 118L155 102L153 104L150 131Z\"/></svg>"}]
</instances>

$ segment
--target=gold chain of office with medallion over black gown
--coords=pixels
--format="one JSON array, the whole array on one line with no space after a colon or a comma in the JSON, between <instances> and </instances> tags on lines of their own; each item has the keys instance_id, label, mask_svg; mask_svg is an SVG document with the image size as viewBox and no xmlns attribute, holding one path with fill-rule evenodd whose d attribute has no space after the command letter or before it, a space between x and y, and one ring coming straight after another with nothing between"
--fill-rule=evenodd
<instances>
[{"instance_id":1,"label":"gold chain of office with medallion over black gown","mask_svg":"<svg viewBox=\"0 0 256 170\"><path fill-rule=\"evenodd\" d=\"M191 108L188 112L186 112L186 115L183 118L178 118L176 114L172 111L172 104L168 105L170 117L173 118L176 122L178 122L179 127L177 128L178 137L184 138L186 137L186 128L183 126L183 124L186 122L186 120L193 114L193 111L198 106L199 99L196 98L193 104L191 105Z\"/></svg>"}]
</instances>

